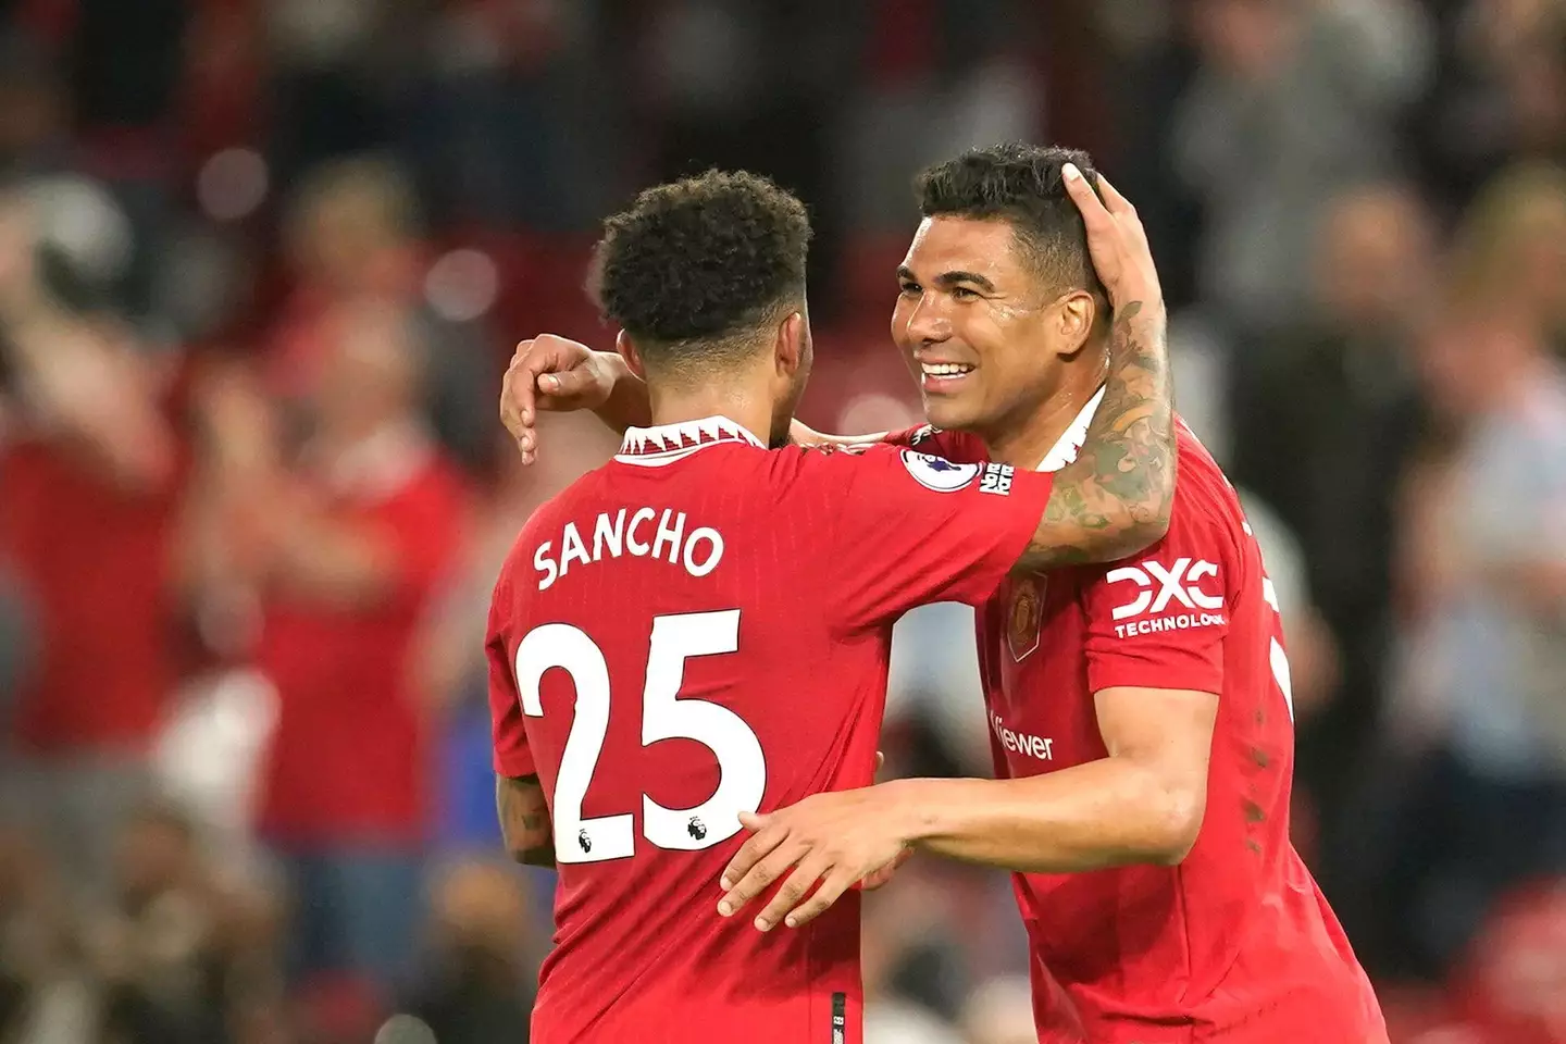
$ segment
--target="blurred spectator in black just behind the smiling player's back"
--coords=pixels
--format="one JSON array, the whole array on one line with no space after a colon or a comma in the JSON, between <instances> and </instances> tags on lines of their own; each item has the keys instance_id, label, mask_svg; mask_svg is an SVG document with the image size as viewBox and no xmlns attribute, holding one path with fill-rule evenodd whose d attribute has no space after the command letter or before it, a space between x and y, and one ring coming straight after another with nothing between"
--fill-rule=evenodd
<instances>
[{"instance_id":1,"label":"blurred spectator in black just behind the smiling player's back","mask_svg":"<svg viewBox=\"0 0 1566 1044\"><path fill-rule=\"evenodd\" d=\"M1342 651L1339 698L1303 729L1300 750L1301 778L1328 809L1361 783L1344 772L1345 751L1364 750L1378 714L1394 502L1419 430L1411 355L1436 294L1433 255L1434 229L1408 186L1336 197L1317 235L1311 319L1273 338L1268 365L1234 399L1231 474L1298 534L1309 596ZM1333 878L1333 847L1323 858Z\"/></svg>"}]
</instances>

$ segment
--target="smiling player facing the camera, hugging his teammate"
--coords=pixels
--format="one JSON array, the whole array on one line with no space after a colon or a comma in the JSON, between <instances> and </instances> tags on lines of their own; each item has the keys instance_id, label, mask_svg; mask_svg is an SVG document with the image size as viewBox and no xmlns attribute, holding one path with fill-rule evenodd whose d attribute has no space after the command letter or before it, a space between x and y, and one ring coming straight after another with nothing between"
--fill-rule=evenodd
<instances>
[{"instance_id":1,"label":"smiling player facing the camera, hugging his teammate","mask_svg":"<svg viewBox=\"0 0 1566 1044\"><path fill-rule=\"evenodd\" d=\"M893 337L933 426L889 441L1018 476L1102 454L1082 432L1102 419L1104 360L1129 327L1096 319L1095 247L1140 227L1104 182L1107 207L1079 216L1071 164L1088 169L1082 153L1010 146L921 177ZM1062 307L1093 319L1087 333L1054 335ZM575 346L523 352L514 398L564 369L545 382L564 401L526 405L636 399L601 355L583 360ZM980 610L998 779L894 781L747 815L756 833L725 869L722 909L783 880L758 927L808 925L868 870L927 850L1015 872L1041 1041L1386 1041L1289 842L1289 665L1261 553L1182 426L1179 468L1157 545L1110 568L1013 576Z\"/></svg>"}]
</instances>

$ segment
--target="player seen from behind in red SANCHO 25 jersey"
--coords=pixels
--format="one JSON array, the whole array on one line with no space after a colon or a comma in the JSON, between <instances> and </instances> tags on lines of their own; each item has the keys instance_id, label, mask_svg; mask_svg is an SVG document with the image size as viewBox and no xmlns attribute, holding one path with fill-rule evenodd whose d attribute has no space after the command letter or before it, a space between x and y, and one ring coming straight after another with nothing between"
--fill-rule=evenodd
<instances>
[{"instance_id":1,"label":"player seen from behind in red SANCHO 25 jersey","mask_svg":"<svg viewBox=\"0 0 1566 1044\"><path fill-rule=\"evenodd\" d=\"M714 911L739 815L871 783L905 610L1167 529L1164 330L1134 299L1095 452L1059 474L783 446L808 238L794 197L738 174L606 224L600 296L648 424L529 518L490 614L506 844L561 872L536 1044L858 1041L855 895L789 933ZM1084 329L1068 304L1052 321Z\"/></svg>"}]
</instances>

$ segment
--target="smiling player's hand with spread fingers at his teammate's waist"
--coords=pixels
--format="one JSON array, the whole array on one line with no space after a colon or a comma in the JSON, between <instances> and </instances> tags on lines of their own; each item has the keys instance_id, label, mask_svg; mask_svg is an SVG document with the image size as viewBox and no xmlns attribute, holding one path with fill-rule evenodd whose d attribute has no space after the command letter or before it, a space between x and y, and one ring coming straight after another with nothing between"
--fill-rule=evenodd
<instances>
[{"instance_id":1,"label":"smiling player's hand with spread fingers at his teammate's waist","mask_svg":"<svg viewBox=\"0 0 1566 1044\"><path fill-rule=\"evenodd\" d=\"M908 858L893 795L891 784L880 784L814 794L764 815L742 812L739 822L756 833L723 870L725 895L717 913L731 916L791 867L794 872L756 917L761 931L780 920L789 928L808 923L860 881L885 884Z\"/></svg>"}]
</instances>

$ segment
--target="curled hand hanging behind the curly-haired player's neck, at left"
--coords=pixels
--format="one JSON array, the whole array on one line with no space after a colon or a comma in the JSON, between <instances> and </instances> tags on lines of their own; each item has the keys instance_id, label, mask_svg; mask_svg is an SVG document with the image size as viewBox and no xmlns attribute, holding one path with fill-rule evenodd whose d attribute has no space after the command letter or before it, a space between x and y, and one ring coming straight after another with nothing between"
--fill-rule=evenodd
<instances>
[{"instance_id":1,"label":"curled hand hanging behind the curly-haired player's neck, at left","mask_svg":"<svg viewBox=\"0 0 1566 1044\"><path fill-rule=\"evenodd\" d=\"M611 362L612 360L612 362ZM619 355L553 333L517 344L500 393L500 419L517 440L521 462L537 460L540 412L601 410L614 394Z\"/></svg>"}]
</instances>

